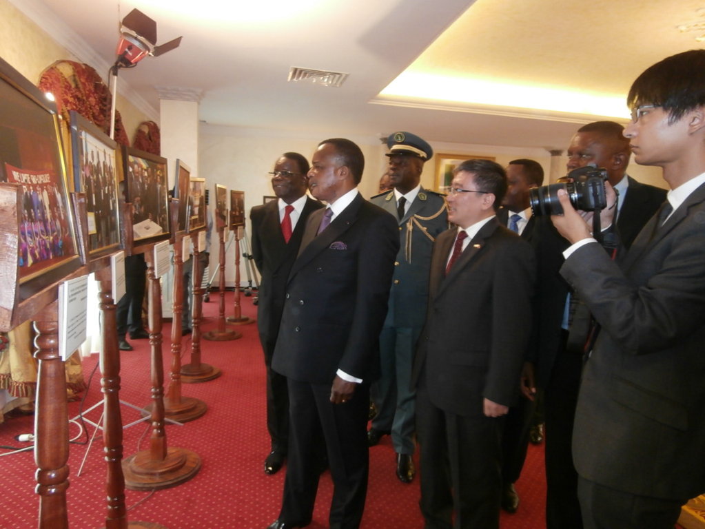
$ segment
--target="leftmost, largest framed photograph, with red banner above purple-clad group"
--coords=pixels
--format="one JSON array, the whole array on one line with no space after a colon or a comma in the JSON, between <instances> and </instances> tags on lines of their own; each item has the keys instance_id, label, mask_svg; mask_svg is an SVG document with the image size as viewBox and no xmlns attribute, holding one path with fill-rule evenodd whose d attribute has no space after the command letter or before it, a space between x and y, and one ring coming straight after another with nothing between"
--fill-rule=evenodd
<instances>
[{"instance_id":1,"label":"leftmost, largest framed photograph, with red banner above purple-clad group","mask_svg":"<svg viewBox=\"0 0 705 529\"><path fill-rule=\"evenodd\" d=\"M0 59L0 182L22 188L19 300L81 266L56 106Z\"/></svg>"}]
</instances>

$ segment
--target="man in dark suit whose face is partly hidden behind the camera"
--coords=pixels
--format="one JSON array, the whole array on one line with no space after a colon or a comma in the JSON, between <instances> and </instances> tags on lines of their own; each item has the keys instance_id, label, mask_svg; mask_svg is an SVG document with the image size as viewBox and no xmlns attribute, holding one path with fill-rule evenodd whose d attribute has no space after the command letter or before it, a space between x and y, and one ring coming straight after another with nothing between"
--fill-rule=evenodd
<instances>
[{"instance_id":1,"label":"man in dark suit whose face is partly hidden behind the camera","mask_svg":"<svg viewBox=\"0 0 705 529\"><path fill-rule=\"evenodd\" d=\"M666 190L640 184L626 174L630 158L624 127L598 121L580 127L568 147L568 170L594 163L606 168L608 181L620 190L616 227L624 249L666 199ZM544 388L546 421L546 527L582 527L577 498L577 472L572 461L573 419L577 404L589 310L571 293L558 270L568 242L551 225L539 240L538 379ZM533 378L529 374L529 378ZM552 431L551 431L552 430Z\"/></svg>"}]
</instances>

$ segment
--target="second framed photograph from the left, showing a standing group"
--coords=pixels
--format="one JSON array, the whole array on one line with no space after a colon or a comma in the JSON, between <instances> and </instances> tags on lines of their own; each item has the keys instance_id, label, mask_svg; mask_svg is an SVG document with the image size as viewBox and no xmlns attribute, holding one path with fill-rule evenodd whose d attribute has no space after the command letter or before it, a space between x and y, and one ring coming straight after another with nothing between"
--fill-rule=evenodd
<instances>
[{"instance_id":1,"label":"second framed photograph from the left, showing a standing group","mask_svg":"<svg viewBox=\"0 0 705 529\"><path fill-rule=\"evenodd\" d=\"M73 189L86 196L88 255L95 259L121 247L118 144L71 111Z\"/></svg>"}]
</instances>

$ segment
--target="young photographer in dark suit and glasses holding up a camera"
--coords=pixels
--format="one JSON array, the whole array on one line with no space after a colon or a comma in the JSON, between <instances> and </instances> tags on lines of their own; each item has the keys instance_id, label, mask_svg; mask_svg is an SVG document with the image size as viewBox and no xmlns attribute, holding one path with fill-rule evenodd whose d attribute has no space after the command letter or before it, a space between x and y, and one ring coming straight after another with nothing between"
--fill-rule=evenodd
<instances>
[{"instance_id":1,"label":"young photographer in dark suit and glasses holding up a camera","mask_svg":"<svg viewBox=\"0 0 705 529\"><path fill-rule=\"evenodd\" d=\"M648 68L627 104L635 160L663 168L668 201L616 262L565 193L551 217L571 244L560 273L600 326L572 448L587 529L671 529L705 492L705 50Z\"/></svg>"}]
</instances>

